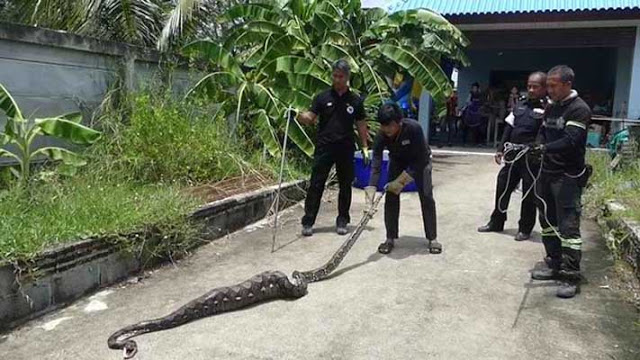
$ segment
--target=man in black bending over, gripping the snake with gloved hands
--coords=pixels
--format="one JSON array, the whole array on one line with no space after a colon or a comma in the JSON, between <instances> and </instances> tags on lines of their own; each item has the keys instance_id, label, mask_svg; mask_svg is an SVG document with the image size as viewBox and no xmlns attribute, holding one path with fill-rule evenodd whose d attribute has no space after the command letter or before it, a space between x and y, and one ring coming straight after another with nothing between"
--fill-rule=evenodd
<instances>
[{"instance_id":1,"label":"man in black bending over, gripping the snake with gloved hands","mask_svg":"<svg viewBox=\"0 0 640 360\"><path fill-rule=\"evenodd\" d=\"M369 186L365 189L365 199L372 206L382 167L384 149L389 150L389 179L385 189L384 223L387 239L378 251L388 254L393 250L398 238L398 217L400 215L400 193L405 185L416 182L422 222L432 254L442 252L442 245L436 241L436 202L433 199L431 183L431 149L425 142L420 124L412 119L403 119L402 110L395 103L382 105L378 110L380 132L373 144L373 161Z\"/></svg>"}]
</instances>

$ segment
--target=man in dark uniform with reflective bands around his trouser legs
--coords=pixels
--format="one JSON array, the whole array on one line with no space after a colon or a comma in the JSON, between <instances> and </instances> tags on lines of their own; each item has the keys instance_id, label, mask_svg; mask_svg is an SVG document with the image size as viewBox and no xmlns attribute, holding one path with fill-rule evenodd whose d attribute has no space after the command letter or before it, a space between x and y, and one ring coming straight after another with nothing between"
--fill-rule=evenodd
<instances>
[{"instance_id":1,"label":"man in dark uniform with reflective bands around his trouser legs","mask_svg":"<svg viewBox=\"0 0 640 360\"><path fill-rule=\"evenodd\" d=\"M550 102L534 152L543 154L542 174L536 186L540 195L542 240L548 269L535 270L535 280L561 280L557 295L571 298L579 291L582 239L580 215L582 189L590 169L585 164L589 106L572 89L574 72L568 66L547 74Z\"/></svg>"}]
</instances>

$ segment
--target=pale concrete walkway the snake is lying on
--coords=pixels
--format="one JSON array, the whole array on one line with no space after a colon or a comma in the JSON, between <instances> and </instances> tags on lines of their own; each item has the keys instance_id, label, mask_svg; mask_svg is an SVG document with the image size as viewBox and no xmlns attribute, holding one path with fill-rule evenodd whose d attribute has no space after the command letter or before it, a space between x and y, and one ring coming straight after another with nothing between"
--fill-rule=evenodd
<instances>
[{"instance_id":1,"label":"pale concrete walkway the snake is lying on","mask_svg":"<svg viewBox=\"0 0 640 360\"><path fill-rule=\"evenodd\" d=\"M138 337L138 358L640 359L638 314L603 287L611 261L592 222L583 227L587 283L572 300L557 299L553 282L529 280L543 247L538 233L533 241L512 240L515 201L504 234L476 232L491 210L497 170L487 156L437 156L443 254L428 254L418 198L404 195L403 238L390 256L376 253L384 237L380 212L337 276L312 284L307 296ZM102 291L0 337L0 359L119 359L106 341L120 327L264 270L319 266L344 239L332 232L335 194L326 198L313 238L298 237L297 206L286 215L276 253L271 231L252 226L137 284ZM362 198L354 193L354 217Z\"/></svg>"}]
</instances>

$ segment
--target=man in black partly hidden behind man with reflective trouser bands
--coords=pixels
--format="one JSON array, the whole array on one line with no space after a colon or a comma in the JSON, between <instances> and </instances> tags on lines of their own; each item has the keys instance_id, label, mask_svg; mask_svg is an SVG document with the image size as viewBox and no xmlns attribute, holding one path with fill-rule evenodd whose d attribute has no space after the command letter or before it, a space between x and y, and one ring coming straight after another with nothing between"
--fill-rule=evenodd
<instances>
[{"instance_id":1,"label":"man in black partly hidden behind man with reflective trouser bands","mask_svg":"<svg viewBox=\"0 0 640 360\"><path fill-rule=\"evenodd\" d=\"M506 127L502 136L502 142L498 146L495 155L496 163L499 165L504 158L504 144L513 143L528 145L536 140L538 130L544 118L544 107L546 105L546 82L547 74L535 72L529 75L527 81L527 97L520 99L514 106L513 111L505 119ZM504 223L507 221L507 208L511 193L516 189L522 180L523 198L520 207L520 222L516 241L529 239L531 231L536 224L536 203L535 194L532 191L533 176L538 174L538 164L529 159L530 168L527 169L527 159L522 157L515 159L515 154L509 154L504 158L505 165L498 173L496 186L496 200L493 213L489 223L478 228L479 232L500 232L504 230ZM531 171L531 173L529 172Z\"/></svg>"}]
</instances>

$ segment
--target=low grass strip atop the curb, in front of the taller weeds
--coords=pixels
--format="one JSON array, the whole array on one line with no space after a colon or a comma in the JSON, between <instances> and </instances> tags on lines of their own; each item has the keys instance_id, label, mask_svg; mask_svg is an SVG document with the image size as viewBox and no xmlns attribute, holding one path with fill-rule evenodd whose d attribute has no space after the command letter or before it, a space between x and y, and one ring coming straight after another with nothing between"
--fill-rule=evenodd
<instances>
[{"instance_id":1,"label":"low grass strip atop the curb, in front of the taller weeds","mask_svg":"<svg viewBox=\"0 0 640 360\"><path fill-rule=\"evenodd\" d=\"M197 202L177 186L80 175L40 181L0 200L0 260L25 259L55 244L173 223Z\"/></svg>"}]
</instances>

